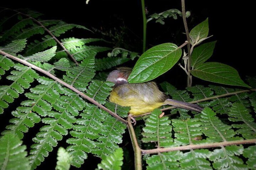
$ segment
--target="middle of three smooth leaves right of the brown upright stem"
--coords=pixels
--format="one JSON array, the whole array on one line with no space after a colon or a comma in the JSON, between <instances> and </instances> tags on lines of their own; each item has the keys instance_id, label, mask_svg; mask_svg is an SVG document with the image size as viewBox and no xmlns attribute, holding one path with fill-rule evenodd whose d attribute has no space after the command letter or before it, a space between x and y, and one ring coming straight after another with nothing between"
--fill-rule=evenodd
<instances>
[{"instance_id":1,"label":"middle of three smooth leaves right of the brown upright stem","mask_svg":"<svg viewBox=\"0 0 256 170\"><path fill-rule=\"evenodd\" d=\"M213 55L213 49L216 41L208 42L195 48L191 55L191 66L196 68L198 65L204 63Z\"/></svg>"}]
</instances>

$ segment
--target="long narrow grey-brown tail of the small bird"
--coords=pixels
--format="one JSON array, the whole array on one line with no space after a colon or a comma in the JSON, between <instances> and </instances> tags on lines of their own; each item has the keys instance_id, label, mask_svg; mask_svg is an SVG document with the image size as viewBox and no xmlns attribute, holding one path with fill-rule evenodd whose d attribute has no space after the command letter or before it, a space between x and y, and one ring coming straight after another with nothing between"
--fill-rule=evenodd
<instances>
[{"instance_id":1,"label":"long narrow grey-brown tail of the small bird","mask_svg":"<svg viewBox=\"0 0 256 170\"><path fill-rule=\"evenodd\" d=\"M202 107L196 104L186 103L178 100L166 99L164 103L172 106L180 107L182 109L196 111L196 112L201 112L203 110Z\"/></svg>"}]
</instances>

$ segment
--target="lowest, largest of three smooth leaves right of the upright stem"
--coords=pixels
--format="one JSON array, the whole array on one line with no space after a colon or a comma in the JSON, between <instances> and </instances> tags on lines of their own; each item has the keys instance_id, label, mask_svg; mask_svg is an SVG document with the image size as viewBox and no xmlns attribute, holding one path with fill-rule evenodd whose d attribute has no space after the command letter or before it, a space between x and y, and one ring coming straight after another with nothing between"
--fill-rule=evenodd
<instances>
[{"instance_id":1,"label":"lowest, largest of three smooth leaves right of the upright stem","mask_svg":"<svg viewBox=\"0 0 256 170\"><path fill-rule=\"evenodd\" d=\"M199 79L209 82L250 87L243 82L238 72L233 67L222 63L203 63L197 66L197 69L191 70L190 73Z\"/></svg>"}]
</instances>

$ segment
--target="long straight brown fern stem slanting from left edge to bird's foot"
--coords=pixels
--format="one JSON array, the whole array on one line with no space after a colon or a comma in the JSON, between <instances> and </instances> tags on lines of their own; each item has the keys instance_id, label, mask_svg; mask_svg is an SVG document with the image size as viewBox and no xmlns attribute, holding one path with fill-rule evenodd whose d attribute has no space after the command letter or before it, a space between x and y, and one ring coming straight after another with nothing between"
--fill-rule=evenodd
<instances>
[{"instance_id":1,"label":"long straight brown fern stem slanting from left edge to bird's foot","mask_svg":"<svg viewBox=\"0 0 256 170\"><path fill-rule=\"evenodd\" d=\"M43 69L41 69L41 68L35 66L34 64L31 64L31 63L25 61L25 60L22 60L22 59L20 59L20 58L18 58L18 57L15 57L15 56L11 55L11 54L8 54L8 53L6 53L6 52L4 52L4 51L1 51L1 50L0 50L0 54L6 56L6 57L8 57L8 58L11 58L11 59L13 59L13 60L16 60L16 61L18 61L18 62L20 62L20 63L23 63L23 64L25 64L25 65L27 65L27 66L30 66L30 67L33 68L34 70L37 70L37 71L39 71L39 72L45 74L46 76L49 76L50 78L56 80L56 81L59 82L60 84L62 84L62 85L64 85L65 87L69 88L70 90L76 92L77 94L79 94L79 95L82 96L83 98L89 100L91 103L97 105L97 106L98 106L99 108L101 108L102 110L105 110L106 112L108 112L110 115L114 116L115 118L117 118L117 119L120 120L121 122L123 122L123 123L125 123L125 124L127 123L126 120L124 120L123 118L121 118L120 116L118 116L116 113L112 112L111 110L109 110L107 107L104 107L103 105L99 104L96 100L94 100L94 99L92 99L91 97L85 95L84 93L82 93L81 91L77 90L76 88L74 88L73 86L69 85L68 83L63 82L61 79L57 78L56 76L53 76L51 73L49 73L49 72L47 72L47 71L45 71L45 70L43 70Z\"/></svg>"}]
</instances>

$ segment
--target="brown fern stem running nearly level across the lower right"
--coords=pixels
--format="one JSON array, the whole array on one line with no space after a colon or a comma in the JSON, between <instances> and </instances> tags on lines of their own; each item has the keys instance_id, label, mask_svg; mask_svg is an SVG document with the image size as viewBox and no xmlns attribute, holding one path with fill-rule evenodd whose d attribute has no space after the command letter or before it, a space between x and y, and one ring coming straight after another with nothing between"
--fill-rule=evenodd
<instances>
[{"instance_id":1,"label":"brown fern stem running nearly level across the lower right","mask_svg":"<svg viewBox=\"0 0 256 170\"><path fill-rule=\"evenodd\" d=\"M212 148L212 147L222 147L229 145L240 145L240 144L253 144L256 143L256 139L248 139L248 140L239 140L239 141L225 141L225 142L217 142L217 143L209 143L209 144L190 144L186 146L179 147L167 147L167 148L157 148L151 150L141 150L142 154L152 154L152 153L161 153L161 152L171 152L176 150L190 150L190 149L201 149L201 148Z\"/></svg>"}]
</instances>

